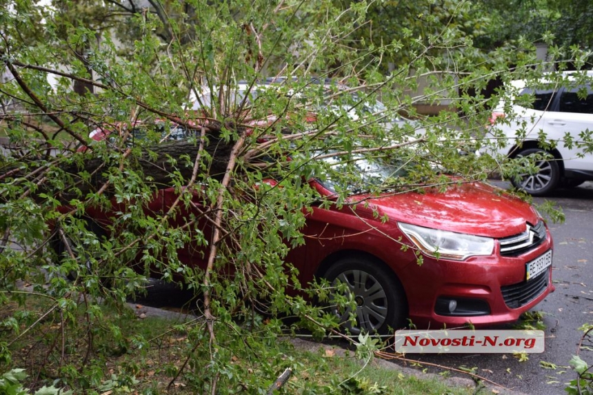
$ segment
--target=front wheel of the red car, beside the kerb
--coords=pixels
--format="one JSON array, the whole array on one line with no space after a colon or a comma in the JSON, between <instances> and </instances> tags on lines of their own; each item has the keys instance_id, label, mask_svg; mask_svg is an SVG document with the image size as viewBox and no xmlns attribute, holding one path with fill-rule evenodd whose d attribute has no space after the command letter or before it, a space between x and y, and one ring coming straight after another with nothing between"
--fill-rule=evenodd
<instances>
[{"instance_id":1,"label":"front wheel of the red car, beside the kerb","mask_svg":"<svg viewBox=\"0 0 593 395\"><path fill-rule=\"evenodd\" d=\"M350 334L387 334L399 329L408 317L408 302L396 275L381 263L367 257L352 256L334 263L324 276L332 286L345 283L356 302L356 323L350 321L350 308L331 303L328 309Z\"/></svg>"}]
</instances>

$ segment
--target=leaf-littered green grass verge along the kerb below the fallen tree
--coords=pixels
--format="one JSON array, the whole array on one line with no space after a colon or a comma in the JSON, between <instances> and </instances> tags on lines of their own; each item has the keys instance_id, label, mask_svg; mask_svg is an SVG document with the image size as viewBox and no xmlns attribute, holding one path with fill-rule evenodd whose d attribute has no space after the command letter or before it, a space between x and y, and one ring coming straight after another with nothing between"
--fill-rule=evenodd
<instances>
[{"instance_id":1,"label":"leaf-littered green grass verge along the kerb below the fallen tree","mask_svg":"<svg viewBox=\"0 0 593 395\"><path fill-rule=\"evenodd\" d=\"M42 315L50 307L48 298L29 295L25 300L20 305L5 303L0 309L0 324L5 324L0 325L0 343L16 338L9 346L12 361L0 363L0 375L25 368L26 387L53 384L72 389L74 394L199 393L191 378L183 374L170 385L192 349L187 327L165 318L140 319L131 309L91 305L86 312L104 314L99 324L88 327L86 312L80 310L76 323L66 328L62 327L65 310ZM19 318L18 328L6 325L12 316ZM25 332L33 323L36 325ZM148 341L137 341L139 338ZM90 339L93 347L89 347ZM332 394L338 389L341 394L472 393L440 380L406 376L377 361L361 361L350 352L336 353L321 346L304 350L288 339L277 347L283 358L296 361L293 365L298 367L283 392L275 394Z\"/></svg>"}]
</instances>

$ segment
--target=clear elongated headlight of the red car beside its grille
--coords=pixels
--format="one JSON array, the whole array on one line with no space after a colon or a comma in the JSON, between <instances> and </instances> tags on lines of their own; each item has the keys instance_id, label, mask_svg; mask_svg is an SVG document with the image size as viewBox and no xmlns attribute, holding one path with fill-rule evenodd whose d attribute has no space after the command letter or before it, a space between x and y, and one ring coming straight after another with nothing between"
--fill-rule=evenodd
<instances>
[{"instance_id":1,"label":"clear elongated headlight of the red car beside its grille","mask_svg":"<svg viewBox=\"0 0 593 395\"><path fill-rule=\"evenodd\" d=\"M409 223L399 222L398 225L421 252L437 259L463 261L470 256L490 255L494 250L494 239L490 237L448 232Z\"/></svg>"}]
</instances>

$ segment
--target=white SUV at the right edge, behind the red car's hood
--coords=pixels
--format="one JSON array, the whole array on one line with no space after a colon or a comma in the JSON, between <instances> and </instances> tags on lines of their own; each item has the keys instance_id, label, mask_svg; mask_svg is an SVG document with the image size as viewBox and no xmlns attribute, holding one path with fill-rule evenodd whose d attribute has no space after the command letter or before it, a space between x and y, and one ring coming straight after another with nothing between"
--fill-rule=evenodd
<instances>
[{"instance_id":1,"label":"white SUV at the right edge, behind the red car's hood","mask_svg":"<svg viewBox=\"0 0 593 395\"><path fill-rule=\"evenodd\" d=\"M512 105L505 114L501 105L492 113L489 134L497 143L496 154L538 155L536 169L510 180L534 196L593 180L593 144L587 144L588 132L593 132L593 72L561 75L563 83L544 81L536 88L512 81L514 94L534 96L532 108Z\"/></svg>"}]
</instances>

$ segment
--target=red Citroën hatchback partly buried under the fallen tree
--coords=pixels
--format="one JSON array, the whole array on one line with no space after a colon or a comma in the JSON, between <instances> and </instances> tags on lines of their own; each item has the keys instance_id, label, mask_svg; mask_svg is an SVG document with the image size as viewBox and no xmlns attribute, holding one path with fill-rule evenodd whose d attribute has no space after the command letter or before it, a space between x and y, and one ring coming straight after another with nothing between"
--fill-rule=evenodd
<instances>
[{"instance_id":1,"label":"red Citro\u00ebn hatchback partly buried under the fallen tree","mask_svg":"<svg viewBox=\"0 0 593 395\"><path fill-rule=\"evenodd\" d=\"M382 183L396 171L368 159L348 165L353 163L363 183ZM313 205L301 230L307 242L287 258L301 284L323 277L347 285L356 302L356 324L350 324L349 310L332 311L353 334L385 333L405 326L408 318L416 327L434 329L512 322L554 291L553 243L545 221L528 203L491 185L455 183L445 192L380 195L365 194L361 184L339 185L331 176L310 185L325 199L346 188L356 191L348 202L368 203ZM165 188L147 208L167 212L176 199L174 188ZM110 214L92 209L86 214L99 223L112 221ZM202 252L185 245L178 254L183 263L203 265Z\"/></svg>"}]
</instances>

